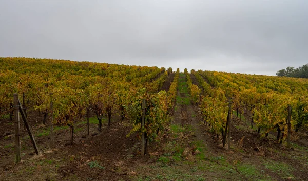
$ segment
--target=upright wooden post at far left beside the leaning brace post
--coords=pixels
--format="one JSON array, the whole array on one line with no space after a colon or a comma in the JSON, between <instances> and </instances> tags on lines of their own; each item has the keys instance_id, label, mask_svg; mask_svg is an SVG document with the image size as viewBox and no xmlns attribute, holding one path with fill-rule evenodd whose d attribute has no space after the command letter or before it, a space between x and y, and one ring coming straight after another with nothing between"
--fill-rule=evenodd
<instances>
[{"instance_id":1,"label":"upright wooden post at far left beside the leaning brace post","mask_svg":"<svg viewBox=\"0 0 308 181\"><path fill-rule=\"evenodd\" d=\"M15 162L21 162L20 120L18 111L18 93L14 93L14 120L15 120Z\"/></svg>"}]
</instances>

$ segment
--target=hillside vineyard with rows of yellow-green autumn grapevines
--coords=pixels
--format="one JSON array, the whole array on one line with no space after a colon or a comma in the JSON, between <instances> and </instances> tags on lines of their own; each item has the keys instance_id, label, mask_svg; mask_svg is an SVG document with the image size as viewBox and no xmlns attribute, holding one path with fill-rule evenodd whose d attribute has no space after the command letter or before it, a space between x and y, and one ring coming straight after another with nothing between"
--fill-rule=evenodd
<instances>
[{"instance_id":1,"label":"hillside vineyard with rows of yellow-green autumn grapevines","mask_svg":"<svg viewBox=\"0 0 308 181\"><path fill-rule=\"evenodd\" d=\"M17 57L0 63L0 180L308 179L308 79ZM21 162L14 93L40 151L19 116Z\"/></svg>"}]
</instances>

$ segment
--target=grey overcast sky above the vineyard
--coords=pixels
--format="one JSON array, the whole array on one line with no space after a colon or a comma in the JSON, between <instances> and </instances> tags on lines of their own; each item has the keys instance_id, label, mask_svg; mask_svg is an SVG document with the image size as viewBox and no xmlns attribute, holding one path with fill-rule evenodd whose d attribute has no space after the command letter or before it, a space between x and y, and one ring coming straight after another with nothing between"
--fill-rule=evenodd
<instances>
[{"instance_id":1,"label":"grey overcast sky above the vineyard","mask_svg":"<svg viewBox=\"0 0 308 181\"><path fill-rule=\"evenodd\" d=\"M308 63L307 0L0 0L0 57L275 75Z\"/></svg>"}]
</instances>

